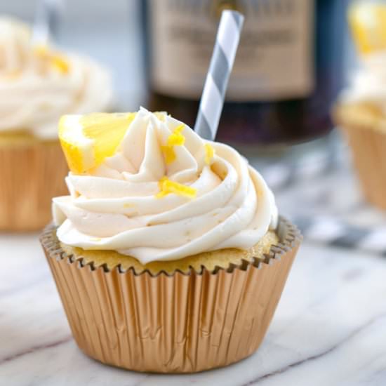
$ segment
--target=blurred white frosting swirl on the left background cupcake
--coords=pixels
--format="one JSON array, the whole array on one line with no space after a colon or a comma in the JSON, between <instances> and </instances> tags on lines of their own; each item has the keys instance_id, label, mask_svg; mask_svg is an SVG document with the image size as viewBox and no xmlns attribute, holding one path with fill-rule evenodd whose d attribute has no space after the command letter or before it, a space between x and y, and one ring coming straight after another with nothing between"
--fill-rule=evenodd
<instances>
[{"instance_id":1,"label":"blurred white frosting swirl on the left background cupcake","mask_svg":"<svg viewBox=\"0 0 386 386\"><path fill-rule=\"evenodd\" d=\"M27 130L57 138L62 114L104 111L111 104L106 69L89 58L47 49L39 55L27 25L0 18L0 133Z\"/></svg>"}]
</instances>

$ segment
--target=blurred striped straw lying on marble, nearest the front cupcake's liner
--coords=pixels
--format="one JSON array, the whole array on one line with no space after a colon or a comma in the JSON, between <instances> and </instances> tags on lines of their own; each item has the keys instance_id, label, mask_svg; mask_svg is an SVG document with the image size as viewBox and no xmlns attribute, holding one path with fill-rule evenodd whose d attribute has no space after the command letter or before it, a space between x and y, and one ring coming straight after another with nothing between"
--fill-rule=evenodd
<instances>
[{"instance_id":1,"label":"blurred striped straw lying on marble, nearest the front cupcake's liner","mask_svg":"<svg viewBox=\"0 0 386 386\"><path fill-rule=\"evenodd\" d=\"M358 227L334 217L294 218L307 241L386 256L386 227Z\"/></svg>"}]
</instances>

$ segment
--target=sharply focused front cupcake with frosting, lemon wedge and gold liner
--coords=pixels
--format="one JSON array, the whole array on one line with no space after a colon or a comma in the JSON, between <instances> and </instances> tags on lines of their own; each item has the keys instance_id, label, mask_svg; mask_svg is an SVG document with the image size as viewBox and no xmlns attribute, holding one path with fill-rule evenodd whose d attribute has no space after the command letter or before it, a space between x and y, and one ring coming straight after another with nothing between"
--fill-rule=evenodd
<instances>
[{"instance_id":1,"label":"sharply focused front cupcake with frosting, lemon wedge and gold liner","mask_svg":"<svg viewBox=\"0 0 386 386\"><path fill-rule=\"evenodd\" d=\"M190 373L257 350L300 245L261 175L166 113L68 115L69 196L41 235L88 356Z\"/></svg>"}]
</instances>

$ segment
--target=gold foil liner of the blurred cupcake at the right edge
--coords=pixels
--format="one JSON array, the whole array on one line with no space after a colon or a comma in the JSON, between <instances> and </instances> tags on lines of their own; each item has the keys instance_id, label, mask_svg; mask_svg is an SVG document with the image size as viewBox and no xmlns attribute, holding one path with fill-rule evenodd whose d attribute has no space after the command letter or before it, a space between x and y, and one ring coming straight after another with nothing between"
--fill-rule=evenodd
<instances>
[{"instance_id":1,"label":"gold foil liner of the blurred cupcake at the right edge","mask_svg":"<svg viewBox=\"0 0 386 386\"><path fill-rule=\"evenodd\" d=\"M348 108L347 108L348 109ZM350 111L340 107L335 111L350 145L354 170L367 201L386 210L386 125L385 119L361 114L350 117Z\"/></svg>"}]
</instances>

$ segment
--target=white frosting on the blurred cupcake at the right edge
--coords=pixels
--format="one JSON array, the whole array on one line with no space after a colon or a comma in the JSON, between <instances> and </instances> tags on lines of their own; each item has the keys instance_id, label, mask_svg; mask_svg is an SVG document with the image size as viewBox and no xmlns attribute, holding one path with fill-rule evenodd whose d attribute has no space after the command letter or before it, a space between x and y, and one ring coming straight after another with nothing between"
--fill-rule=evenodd
<instances>
[{"instance_id":1,"label":"white frosting on the blurred cupcake at the right edge","mask_svg":"<svg viewBox=\"0 0 386 386\"><path fill-rule=\"evenodd\" d=\"M386 52L361 58L361 67L353 72L350 84L341 94L342 102L371 102L386 112Z\"/></svg>"}]
</instances>

